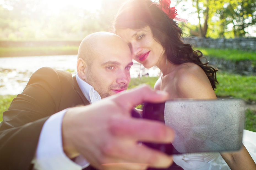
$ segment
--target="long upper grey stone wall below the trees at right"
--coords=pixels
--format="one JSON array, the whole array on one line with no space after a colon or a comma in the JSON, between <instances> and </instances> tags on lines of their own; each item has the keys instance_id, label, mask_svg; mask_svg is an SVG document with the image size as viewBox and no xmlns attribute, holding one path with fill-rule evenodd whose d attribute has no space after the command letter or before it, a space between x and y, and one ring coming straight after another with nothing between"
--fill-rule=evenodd
<instances>
[{"instance_id":1,"label":"long upper grey stone wall below the trees at right","mask_svg":"<svg viewBox=\"0 0 256 170\"><path fill-rule=\"evenodd\" d=\"M241 50L256 50L256 38L234 38L234 39L212 39L212 38L186 38L186 43L192 44L195 47L207 48L235 48Z\"/></svg>"}]
</instances>

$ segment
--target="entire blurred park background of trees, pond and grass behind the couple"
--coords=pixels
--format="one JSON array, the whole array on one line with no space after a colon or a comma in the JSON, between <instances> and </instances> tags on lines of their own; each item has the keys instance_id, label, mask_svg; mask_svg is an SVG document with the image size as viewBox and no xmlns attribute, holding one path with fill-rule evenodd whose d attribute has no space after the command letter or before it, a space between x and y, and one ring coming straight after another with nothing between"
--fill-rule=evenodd
<instances>
[{"instance_id":1,"label":"entire blurred park background of trees, pond and grass behind the couple","mask_svg":"<svg viewBox=\"0 0 256 170\"><path fill-rule=\"evenodd\" d=\"M112 31L126 0L0 0L0 122L2 113L41 67L76 73L77 51L88 34ZM216 95L247 103L245 129L256 131L256 0L171 0L184 41L217 72ZM135 62L129 88L153 86L159 70Z\"/></svg>"}]
</instances>

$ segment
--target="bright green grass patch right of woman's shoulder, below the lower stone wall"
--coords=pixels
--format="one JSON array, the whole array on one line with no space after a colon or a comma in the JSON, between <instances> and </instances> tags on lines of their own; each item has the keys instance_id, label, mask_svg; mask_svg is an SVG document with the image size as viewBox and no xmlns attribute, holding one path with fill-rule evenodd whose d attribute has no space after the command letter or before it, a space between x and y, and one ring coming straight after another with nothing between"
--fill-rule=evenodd
<instances>
[{"instance_id":1,"label":"bright green grass patch right of woman's shoulder, below the lower stone wall","mask_svg":"<svg viewBox=\"0 0 256 170\"><path fill-rule=\"evenodd\" d=\"M242 76L226 72L217 72L219 84L215 93L218 97L232 96L247 103L256 101L256 76Z\"/></svg>"}]
</instances>

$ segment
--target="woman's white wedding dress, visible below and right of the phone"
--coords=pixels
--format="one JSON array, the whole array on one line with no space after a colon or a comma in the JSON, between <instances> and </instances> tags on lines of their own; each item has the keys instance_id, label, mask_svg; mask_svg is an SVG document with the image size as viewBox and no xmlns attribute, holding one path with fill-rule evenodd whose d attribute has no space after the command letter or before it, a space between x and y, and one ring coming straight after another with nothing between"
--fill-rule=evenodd
<instances>
[{"instance_id":1,"label":"woman's white wedding dress, visible below and right of the phone","mask_svg":"<svg viewBox=\"0 0 256 170\"><path fill-rule=\"evenodd\" d=\"M243 144L256 162L256 132L243 130ZM230 169L219 152L174 155L173 161L183 169Z\"/></svg>"}]
</instances>

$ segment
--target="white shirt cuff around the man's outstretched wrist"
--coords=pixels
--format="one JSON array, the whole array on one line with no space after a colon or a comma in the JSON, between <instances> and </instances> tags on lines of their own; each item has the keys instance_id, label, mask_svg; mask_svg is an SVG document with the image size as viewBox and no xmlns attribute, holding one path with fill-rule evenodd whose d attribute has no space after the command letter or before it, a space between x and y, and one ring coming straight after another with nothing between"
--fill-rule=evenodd
<instances>
[{"instance_id":1,"label":"white shirt cuff around the man's outstretched wrist","mask_svg":"<svg viewBox=\"0 0 256 170\"><path fill-rule=\"evenodd\" d=\"M62 149L61 122L66 110L53 114L44 123L33 169L73 169L80 170L81 166L70 160Z\"/></svg>"}]
</instances>

